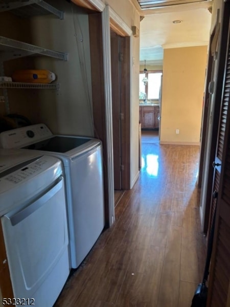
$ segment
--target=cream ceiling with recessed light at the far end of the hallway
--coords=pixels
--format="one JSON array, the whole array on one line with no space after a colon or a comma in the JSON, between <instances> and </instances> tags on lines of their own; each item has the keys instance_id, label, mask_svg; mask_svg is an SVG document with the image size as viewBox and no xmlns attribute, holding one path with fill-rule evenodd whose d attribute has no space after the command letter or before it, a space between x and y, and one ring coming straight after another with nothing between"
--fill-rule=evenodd
<instances>
[{"instance_id":1,"label":"cream ceiling with recessed light at the far end of the hallway","mask_svg":"<svg viewBox=\"0 0 230 307\"><path fill-rule=\"evenodd\" d=\"M208 45L212 14L211 1L137 0L144 19L140 27L140 63L162 64L166 48ZM183 4L179 4L179 3ZM174 3L177 2L177 5ZM136 6L137 7L137 6ZM174 24L173 20L181 20Z\"/></svg>"}]
</instances>

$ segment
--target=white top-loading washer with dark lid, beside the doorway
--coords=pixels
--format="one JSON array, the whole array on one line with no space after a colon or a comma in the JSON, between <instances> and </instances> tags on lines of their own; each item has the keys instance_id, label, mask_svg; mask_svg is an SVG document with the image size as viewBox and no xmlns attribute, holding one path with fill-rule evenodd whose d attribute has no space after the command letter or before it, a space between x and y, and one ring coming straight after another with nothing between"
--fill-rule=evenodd
<instances>
[{"instance_id":1,"label":"white top-loading washer with dark lid, beside the doorway","mask_svg":"<svg viewBox=\"0 0 230 307\"><path fill-rule=\"evenodd\" d=\"M102 143L98 139L53 135L45 124L4 131L2 148L37 150L64 165L72 268L96 243L104 225Z\"/></svg>"}]
</instances>

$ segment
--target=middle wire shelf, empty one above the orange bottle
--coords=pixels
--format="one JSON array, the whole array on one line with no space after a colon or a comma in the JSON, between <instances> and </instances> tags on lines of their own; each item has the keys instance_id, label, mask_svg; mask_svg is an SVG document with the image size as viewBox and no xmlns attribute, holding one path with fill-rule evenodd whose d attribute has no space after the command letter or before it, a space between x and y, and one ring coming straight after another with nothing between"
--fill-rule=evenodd
<instances>
[{"instance_id":1,"label":"middle wire shelf, empty one above the orange bottle","mask_svg":"<svg viewBox=\"0 0 230 307\"><path fill-rule=\"evenodd\" d=\"M41 54L41 55L53 57L56 59L60 59L63 61L67 61L67 56L68 56L67 53L37 47L29 43L18 41L15 39L4 37L4 36L0 36L0 45L5 46L5 47L10 47L13 49L17 49L17 50L25 50L25 51L28 51L30 54ZM2 53L2 56L4 58L3 53Z\"/></svg>"}]
</instances>

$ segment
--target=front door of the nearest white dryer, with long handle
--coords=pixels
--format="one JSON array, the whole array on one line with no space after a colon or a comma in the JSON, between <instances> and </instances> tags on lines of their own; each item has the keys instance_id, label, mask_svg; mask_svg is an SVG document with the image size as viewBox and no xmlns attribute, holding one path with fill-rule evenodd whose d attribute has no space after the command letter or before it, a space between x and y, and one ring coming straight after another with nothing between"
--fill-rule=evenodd
<instances>
[{"instance_id":1,"label":"front door of the nearest white dryer, with long handle","mask_svg":"<svg viewBox=\"0 0 230 307\"><path fill-rule=\"evenodd\" d=\"M14 297L53 306L70 272L63 178L1 220Z\"/></svg>"}]
</instances>

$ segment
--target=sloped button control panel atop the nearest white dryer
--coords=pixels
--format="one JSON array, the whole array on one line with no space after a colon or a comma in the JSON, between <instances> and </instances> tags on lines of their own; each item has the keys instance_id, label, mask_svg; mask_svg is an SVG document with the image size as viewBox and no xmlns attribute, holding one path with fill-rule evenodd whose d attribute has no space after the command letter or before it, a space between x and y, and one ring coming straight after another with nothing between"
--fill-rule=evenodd
<instances>
[{"instance_id":1,"label":"sloped button control panel atop the nearest white dryer","mask_svg":"<svg viewBox=\"0 0 230 307\"><path fill-rule=\"evenodd\" d=\"M23 155L24 150L21 151ZM22 163L0 171L0 216L16 207L23 207L25 202L54 185L62 174L61 161L51 156L38 156L27 161L24 159Z\"/></svg>"}]
</instances>

